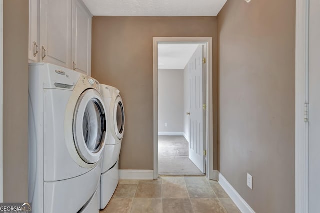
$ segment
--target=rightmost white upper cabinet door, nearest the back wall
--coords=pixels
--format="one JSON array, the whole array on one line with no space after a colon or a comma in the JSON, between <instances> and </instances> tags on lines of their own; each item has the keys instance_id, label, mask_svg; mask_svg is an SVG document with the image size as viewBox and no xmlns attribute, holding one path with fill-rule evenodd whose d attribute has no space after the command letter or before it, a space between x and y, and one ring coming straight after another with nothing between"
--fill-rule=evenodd
<instances>
[{"instance_id":1,"label":"rightmost white upper cabinet door, nearest the back wall","mask_svg":"<svg viewBox=\"0 0 320 213\"><path fill-rule=\"evenodd\" d=\"M91 75L92 15L79 0L72 1L72 69Z\"/></svg>"}]
</instances>

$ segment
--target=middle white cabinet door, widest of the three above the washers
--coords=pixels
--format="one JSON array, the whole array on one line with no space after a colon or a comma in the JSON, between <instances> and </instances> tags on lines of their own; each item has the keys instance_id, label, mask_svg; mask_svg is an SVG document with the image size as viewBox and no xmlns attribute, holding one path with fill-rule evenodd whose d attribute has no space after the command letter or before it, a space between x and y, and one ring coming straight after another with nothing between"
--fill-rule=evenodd
<instances>
[{"instance_id":1,"label":"middle white cabinet door, widest of the three above the washers","mask_svg":"<svg viewBox=\"0 0 320 213\"><path fill-rule=\"evenodd\" d=\"M71 0L40 0L40 62L71 68Z\"/></svg>"}]
</instances>

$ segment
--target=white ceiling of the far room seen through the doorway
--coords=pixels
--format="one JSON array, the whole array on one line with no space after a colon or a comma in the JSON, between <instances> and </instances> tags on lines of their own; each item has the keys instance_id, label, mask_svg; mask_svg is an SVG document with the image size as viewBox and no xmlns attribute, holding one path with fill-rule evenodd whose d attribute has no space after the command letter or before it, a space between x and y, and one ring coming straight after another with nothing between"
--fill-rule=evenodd
<instances>
[{"instance_id":1,"label":"white ceiling of the far room seen through the doorway","mask_svg":"<svg viewBox=\"0 0 320 213\"><path fill-rule=\"evenodd\" d=\"M158 69L184 69L199 44L158 44Z\"/></svg>"}]
</instances>

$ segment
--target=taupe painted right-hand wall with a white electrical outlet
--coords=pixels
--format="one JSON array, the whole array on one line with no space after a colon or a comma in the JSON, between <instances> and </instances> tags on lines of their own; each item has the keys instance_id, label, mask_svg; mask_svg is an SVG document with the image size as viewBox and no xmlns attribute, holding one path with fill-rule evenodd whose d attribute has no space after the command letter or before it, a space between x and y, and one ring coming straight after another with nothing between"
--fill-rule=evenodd
<instances>
[{"instance_id":1,"label":"taupe painted right-hand wall with a white electrical outlet","mask_svg":"<svg viewBox=\"0 0 320 213\"><path fill-rule=\"evenodd\" d=\"M217 18L220 172L255 212L294 213L295 0L228 0Z\"/></svg>"}]
</instances>

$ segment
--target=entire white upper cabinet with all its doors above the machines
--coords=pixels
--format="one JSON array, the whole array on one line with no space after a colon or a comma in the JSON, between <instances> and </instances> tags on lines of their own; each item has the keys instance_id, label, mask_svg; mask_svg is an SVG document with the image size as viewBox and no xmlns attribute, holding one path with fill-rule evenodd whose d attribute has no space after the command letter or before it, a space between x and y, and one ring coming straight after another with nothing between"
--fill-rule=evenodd
<instances>
[{"instance_id":1,"label":"entire white upper cabinet with all its doors above the machines","mask_svg":"<svg viewBox=\"0 0 320 213\"><path fill-rule=\"evenodd\" d=\"M29 0L29 62L90 75L91 26L82 0Z\"/></svg>"}]
</instances>

